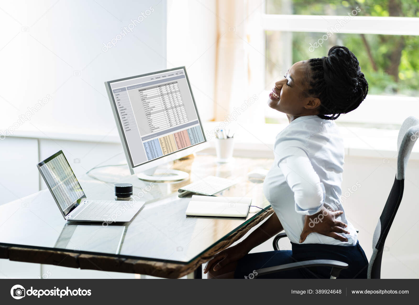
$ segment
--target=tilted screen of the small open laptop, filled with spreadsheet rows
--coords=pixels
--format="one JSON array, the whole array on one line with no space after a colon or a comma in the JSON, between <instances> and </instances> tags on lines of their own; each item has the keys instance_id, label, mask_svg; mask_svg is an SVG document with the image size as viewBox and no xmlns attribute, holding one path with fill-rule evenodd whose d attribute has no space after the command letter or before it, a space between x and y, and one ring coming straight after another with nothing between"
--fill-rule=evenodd
<instances>
[{"instance_id":1,"label":"tilted screen of the small open laptop, filled with spreadsheet rows","mask_svg":"<svg viewBox=\"0 0 419 305\"><path fill-rule=\"evenodd\" d=\"M62 151L38 164L39 171L47 183L62 214L67 215L85 194Z\"/></svg>"}]
</instances>

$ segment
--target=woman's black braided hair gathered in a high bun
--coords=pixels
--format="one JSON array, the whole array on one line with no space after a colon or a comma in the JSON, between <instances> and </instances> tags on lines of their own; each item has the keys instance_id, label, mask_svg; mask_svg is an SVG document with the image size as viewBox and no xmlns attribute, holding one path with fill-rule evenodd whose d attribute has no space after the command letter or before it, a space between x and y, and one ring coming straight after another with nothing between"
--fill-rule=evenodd
<instances>
[{"instance_id":1,"label":"woman's black braided hair gathered in a high bun","mask_svg":"<svg viewBox=\"0 0 419 305\"><path fill-rule=\"evenodd\" d=\"M336 120L356 109L367 96L368 82L357 57L347 47L334 46L327 57L308 62L310 89L305 94L320 99L320 118Z\"/></svg>"}]
</instances>

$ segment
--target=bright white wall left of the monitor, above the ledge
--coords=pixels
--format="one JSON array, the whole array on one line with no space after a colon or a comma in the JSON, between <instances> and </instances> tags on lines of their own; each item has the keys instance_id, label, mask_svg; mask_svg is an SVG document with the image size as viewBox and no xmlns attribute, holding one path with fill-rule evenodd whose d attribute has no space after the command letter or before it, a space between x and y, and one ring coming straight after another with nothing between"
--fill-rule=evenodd
<instances>
[{"instance_id":1,"label":"bright white wall left of the monitor, above the ledge","mask_svg":"<svg viewBox=\"0 0 419 305\"><path fill-rule=\"evenodd\" d=\"M105 135L115 123L104 82L166 68L165 0L3 1L1 8L0 131L17 123L46 134L87 126ZM121 39L105 52L112 38ZM19 126L19 115L43 98Z\"/></svg>"}]
</instances>

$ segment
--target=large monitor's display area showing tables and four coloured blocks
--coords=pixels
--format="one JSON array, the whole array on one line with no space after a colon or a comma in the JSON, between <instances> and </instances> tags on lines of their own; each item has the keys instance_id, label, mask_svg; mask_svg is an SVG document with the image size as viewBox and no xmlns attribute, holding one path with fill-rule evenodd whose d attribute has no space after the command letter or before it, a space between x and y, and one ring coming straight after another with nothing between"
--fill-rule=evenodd
<instances>
[{"instance_id":1,"label":"large monitor's display area showing tables and four coloured blocks","mask_svg":"<svg viewBox=\"0 0 419 305\"><path fill-rule=\"evenodd\" d=\"M133 166L204 142L183 68L110 86Z\"/></svg>"}]
</instances>

